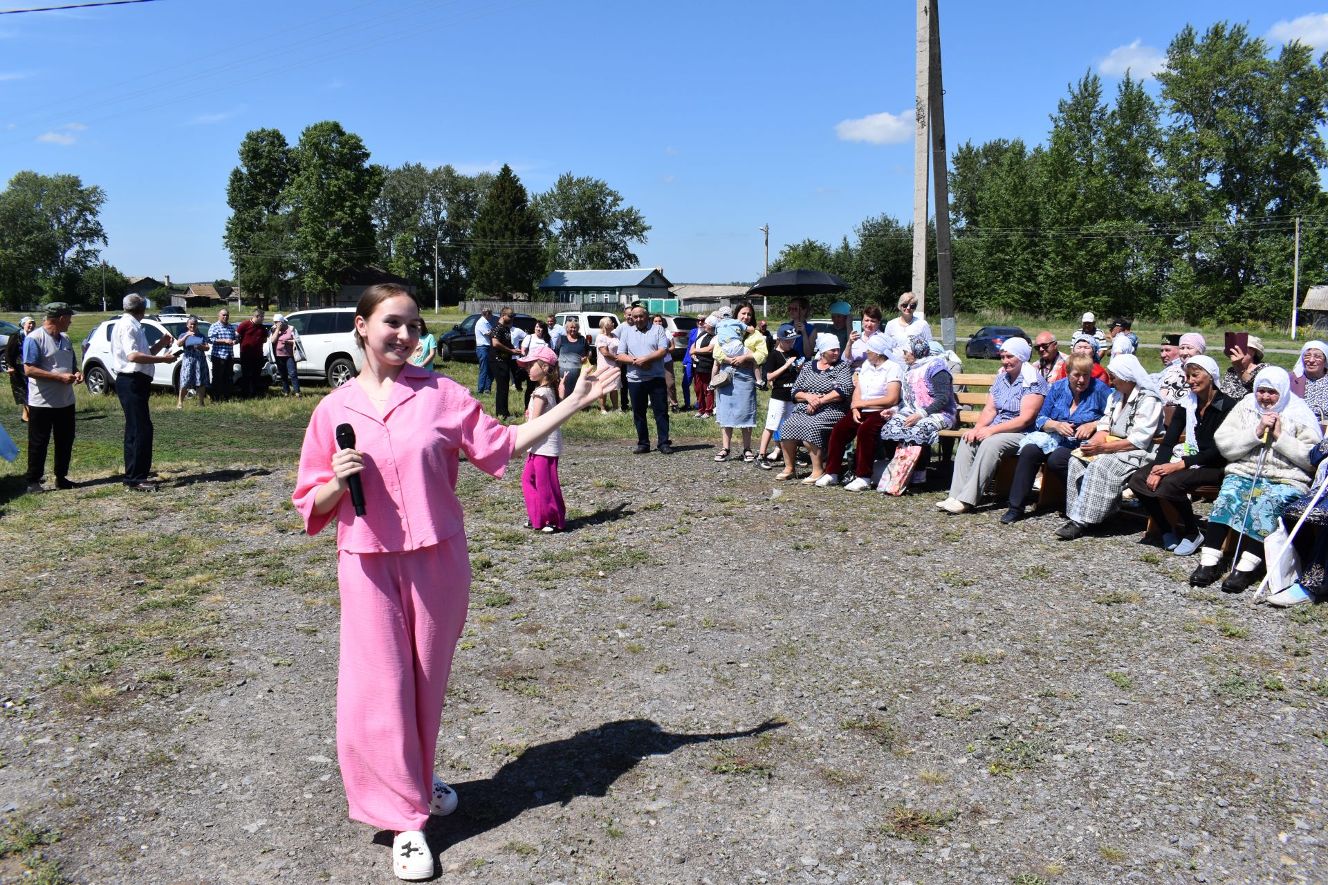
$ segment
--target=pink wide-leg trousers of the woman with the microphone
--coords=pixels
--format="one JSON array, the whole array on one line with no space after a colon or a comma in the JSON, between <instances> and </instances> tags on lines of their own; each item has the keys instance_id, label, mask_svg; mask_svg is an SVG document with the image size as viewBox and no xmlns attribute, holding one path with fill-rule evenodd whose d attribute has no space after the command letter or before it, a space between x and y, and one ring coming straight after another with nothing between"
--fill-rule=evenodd
<instances>
[{"instance_id":1,"label":"pink wide-leg trousers of the woman with the microphone","mask_svg":"<svg viewBox=\"0 0 1328 885\"><path fill-rule=\"evenodd\" d=\"M466 622L466 533L405 553L337 556L336 751L351 817L424 829L452 655Z\"/></svg>"}]
</instances>

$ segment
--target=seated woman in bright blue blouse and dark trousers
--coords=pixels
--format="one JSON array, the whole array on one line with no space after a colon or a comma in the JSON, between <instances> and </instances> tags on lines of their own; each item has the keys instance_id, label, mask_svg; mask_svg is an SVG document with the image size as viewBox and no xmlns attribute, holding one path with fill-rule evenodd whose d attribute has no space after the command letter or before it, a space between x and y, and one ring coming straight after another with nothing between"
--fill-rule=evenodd
<instances>
[{"instance_id":1,"label":"seated woman in bright blue blouse and dark trousers","mask_svg":"<svg viewBox=\"0 0 1328 885\"><path fill-rule=\"evenodd\" d=\"M1066 361L1066 375L1046 393L1042 410L1033 421L1036 430L1019 443L1009 510L1000 517L1001 523L1008 525L1024 519L1024 504L1044 463L1064 482L1070 452L1097 429L1112 389L1093 377L1094 365L1093 357L1076 353Z\"/></svg>"}]
</instances>

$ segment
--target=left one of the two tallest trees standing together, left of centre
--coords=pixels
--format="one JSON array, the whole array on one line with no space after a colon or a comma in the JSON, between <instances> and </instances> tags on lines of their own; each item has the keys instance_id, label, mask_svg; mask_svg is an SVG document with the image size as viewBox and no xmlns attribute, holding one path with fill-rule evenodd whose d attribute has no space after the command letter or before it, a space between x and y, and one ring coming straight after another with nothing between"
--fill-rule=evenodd
<instances>
[{"instance_id":1,"label":"left one of the two tallest trees standing together, left of centre","mask_svg":"<svg viewBox=\"0 0 1328 885\"><path fill-rule=\"evenodd\" d=\"M240 292L262 308L284 288L293 260L284 192L293 174L286 135L255 129L240 142L240 165L231 170L226 202L231 216L222 241L240 268Z\"/></svg>"}]
</instances>

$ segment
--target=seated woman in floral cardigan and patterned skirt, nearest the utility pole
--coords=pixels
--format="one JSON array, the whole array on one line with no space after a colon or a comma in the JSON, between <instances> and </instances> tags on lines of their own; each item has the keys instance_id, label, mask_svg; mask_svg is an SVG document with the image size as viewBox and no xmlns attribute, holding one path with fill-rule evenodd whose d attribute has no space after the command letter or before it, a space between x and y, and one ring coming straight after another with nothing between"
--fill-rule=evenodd
<instances>
[{"instance_id":1,"label":"seated woman in floral cardigan and patterned skirt, nearest the utility pole","mask_svg":"<svg viewBox=\"0 0 1328 885\"><path fill-rule=\"evenodd\" d=\"M940 431L955 426L959 401L955 398L954 375L946 362L944 348L934 349L934 344L923 337L910 338L903 353L908 366L903 402L880 427L880 438L894 443L895 452L878 491L903 495L914 466L922 460L922 447L935 446Z\"/></svg>"}]
</instances>

